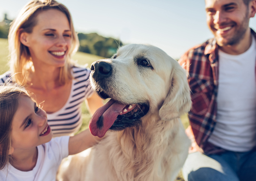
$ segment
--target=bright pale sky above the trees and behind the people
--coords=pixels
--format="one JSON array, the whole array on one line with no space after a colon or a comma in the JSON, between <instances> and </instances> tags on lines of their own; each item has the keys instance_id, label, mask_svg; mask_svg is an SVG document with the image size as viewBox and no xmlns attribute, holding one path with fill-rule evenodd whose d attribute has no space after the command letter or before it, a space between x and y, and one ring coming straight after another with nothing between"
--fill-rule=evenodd
<instances>
[{"instance_id":1,"label":"bright pale sky above the trees and behind the people","mask_svg":"<svg viewBox=\"0 0 256 181\"><path fill-rule=\"evenodd\" d=\"M28 0L2 0L0 21L14 19ZM213 37L204 0L59 0L70 10L77 32L97 32L124 43L149 43L179 58ZM256 31L256 18L250 20Z\"/></svg>"}]
</instances>

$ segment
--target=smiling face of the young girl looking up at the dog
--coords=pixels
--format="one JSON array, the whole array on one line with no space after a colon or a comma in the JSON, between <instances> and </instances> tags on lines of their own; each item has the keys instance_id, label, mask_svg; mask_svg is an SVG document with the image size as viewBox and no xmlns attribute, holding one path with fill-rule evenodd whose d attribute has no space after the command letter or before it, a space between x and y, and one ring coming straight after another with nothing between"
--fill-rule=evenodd
<instances>
[{"instance_id":1,"label":"smiling face of the young girl looking up at the dog","mask_svg":"<svg viewBox=\"0 0 256 181\"><path fill-rule=\"evenodd\" d=\"M13 117L11 147L29 149L47 143L52 138L47 115L28 96L19 97L19 105Z\"/></svg>"}]
</instances>

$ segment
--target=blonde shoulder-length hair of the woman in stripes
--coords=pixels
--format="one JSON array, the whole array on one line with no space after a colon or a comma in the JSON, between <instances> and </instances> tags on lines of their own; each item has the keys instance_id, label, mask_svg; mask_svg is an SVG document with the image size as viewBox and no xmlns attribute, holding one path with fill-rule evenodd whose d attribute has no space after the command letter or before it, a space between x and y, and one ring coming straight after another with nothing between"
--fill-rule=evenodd
<instances>
[{"instance_id":1,"label":"blonde shoulder-length hair of the woman in stripes","mask_svg":"<svg viewBox=\"0 0 256 181\"><path fill-rule=\"evenodd\" d=\"M71 76L71 55L74 54L78 47L79 41L74 30L71 14L66 6L55 0L32 0L28 2L20 11L17 18L10 26L8 35L9 53L10 53L10 70L13 79L19 85L27 85L33 72L33 63L31 61L28 47L20 42L20 34L22 32L31 33L33 27L37 25L37 14L40 11L48 9L57 9L66 14L69 21L72 34L72 43L67 57L66 64L61 67L59 81L65 84L72 79ZM47 20L46 20L47 21ZM29 76L28 76L29 75Z\"/></svg>"}]
</instances>

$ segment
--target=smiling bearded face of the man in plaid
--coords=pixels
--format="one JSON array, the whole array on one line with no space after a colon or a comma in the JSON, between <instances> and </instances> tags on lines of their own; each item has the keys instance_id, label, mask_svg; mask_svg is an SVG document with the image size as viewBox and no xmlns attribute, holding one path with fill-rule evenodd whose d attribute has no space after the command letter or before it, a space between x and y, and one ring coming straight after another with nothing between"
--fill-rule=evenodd
<instances>
[{"instance_id":1,"label":"smiling bearded face of the man in plaid","mask_svg":"<svg viewBox=\"0 0 256 181\"><path fill-rule=\"evenodd\" d=\"M207 25L219 46L235 45L249 29L249 10L242 0L205 0Z\"/></svg>"}]
</instances>

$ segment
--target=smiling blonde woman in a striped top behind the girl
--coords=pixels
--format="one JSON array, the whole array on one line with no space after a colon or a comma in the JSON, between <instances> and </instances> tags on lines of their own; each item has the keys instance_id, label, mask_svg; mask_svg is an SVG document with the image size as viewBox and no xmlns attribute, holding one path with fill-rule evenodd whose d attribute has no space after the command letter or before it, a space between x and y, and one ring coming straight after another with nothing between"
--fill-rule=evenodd
<instances>
[{"instance_id":1,"label":"smiling blonde woman in a striped top behind the girl","mask_svg":"<svg viewBox=\"0 0 256 181\"><path fill-rule=\"evenodd\" d=\"M25 86L42 103L54 136L79 130L81 104L90 113L103 105L89 86L90 70L75 66L71 55L79 41L69 10L54 0L32 0L10 27L10 71L0 76Z\"/></svg>"}]
</instances>

